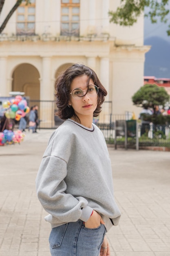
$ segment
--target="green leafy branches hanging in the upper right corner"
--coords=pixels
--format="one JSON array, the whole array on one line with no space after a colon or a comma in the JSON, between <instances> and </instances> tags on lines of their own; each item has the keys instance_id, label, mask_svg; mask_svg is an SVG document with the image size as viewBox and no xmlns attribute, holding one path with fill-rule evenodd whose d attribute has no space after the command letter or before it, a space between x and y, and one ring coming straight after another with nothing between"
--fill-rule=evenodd
<instances>
[{"instance_id":1,"label":"green leafy branches hanging in the upper right corner","mask_svg":"<svg viewBox=\"0 0 170 256\"><path fill-rule=\"evenodd\" d=\"M161 22L168 21L167 15L170 10L167 8L169 0L121 0L116 11L109 11L110 22L121 26L132 26L137 22L137 18L144 12L145 7L149 7L145 16L150 17L152 23L157 22L157 17ZM167 30L170 36L170 25Z\"/></svg>"}]
</instances>

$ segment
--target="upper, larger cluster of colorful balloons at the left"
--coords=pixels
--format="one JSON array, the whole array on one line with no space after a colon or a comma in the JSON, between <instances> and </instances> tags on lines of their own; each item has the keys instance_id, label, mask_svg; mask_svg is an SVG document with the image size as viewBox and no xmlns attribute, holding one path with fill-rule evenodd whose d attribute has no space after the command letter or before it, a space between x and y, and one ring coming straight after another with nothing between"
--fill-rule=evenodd
<instances>
[{"instance_id":1,"label":"upper, larger cluster of colorful balloons at the left","mask_svg":"<svg viewBox=\"0 0 170 256\"><path fill-rule=\"evenodd\" d=\"M20 121L21 117L29 113L29 106L27 106L26 100L21 95L15 96L15 99L4 101L2 107L7 109L5 117L15 119L16 121Z\"/></svg>"}]
</instances>

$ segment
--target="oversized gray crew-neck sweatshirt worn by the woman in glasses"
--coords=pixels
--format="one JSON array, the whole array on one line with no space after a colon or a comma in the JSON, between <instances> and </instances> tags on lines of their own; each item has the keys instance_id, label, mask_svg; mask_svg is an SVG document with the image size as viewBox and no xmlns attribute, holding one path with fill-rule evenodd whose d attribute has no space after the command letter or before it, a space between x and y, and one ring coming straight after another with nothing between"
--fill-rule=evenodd
<instances>
[{"instance_id":1,"label":"oversized gray crew-neck sweatshirt worn by the woman in glasses","mask_svg":"<svg viewBox=\"0 0 170 256\"><path fill-rule=\"evenodd\" d=\"M86 222L93 209L102 216L107 231L119 222L110 157L95 124L90 129L67 119L53 132L36 189L52 228L79 219Z\"/></svg>"}]
</instances>

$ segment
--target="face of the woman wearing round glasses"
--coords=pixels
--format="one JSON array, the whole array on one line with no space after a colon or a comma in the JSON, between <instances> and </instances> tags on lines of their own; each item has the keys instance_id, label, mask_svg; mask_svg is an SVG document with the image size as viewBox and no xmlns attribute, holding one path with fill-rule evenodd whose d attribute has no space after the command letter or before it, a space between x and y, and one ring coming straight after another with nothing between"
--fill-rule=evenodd
<instances>
[{"instance_id":1,"label":"face of the woman wearing round glasses","mask_svg":"<svg viewBox=\"0 0 170 256\"><path fill-rule=\"evenodd\" d=\"M80 88L84 90L84 94L86 94L86 90L88 88L87 80L87 75L78 76L73 79L70 92L75 88ZM92 79L90 79L89 85L94 85ZM76 99L73 98L70 94L69 104L71 104L75 114L77 115L77 117L79 117L80 120L88 115L89 117L93 118L93 112L97 108L97 93L93 96L91 96L90 93L87 93L86 95L84 95L84 97L77 97Z\"/></svg>"}]
</instances>

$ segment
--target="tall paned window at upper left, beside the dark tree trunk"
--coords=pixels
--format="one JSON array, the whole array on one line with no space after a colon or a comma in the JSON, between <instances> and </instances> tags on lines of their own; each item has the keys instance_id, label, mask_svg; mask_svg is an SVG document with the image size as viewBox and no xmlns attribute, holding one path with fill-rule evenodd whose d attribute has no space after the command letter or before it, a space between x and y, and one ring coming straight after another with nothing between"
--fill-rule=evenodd
<instances>
[{"instance_id":1,"label":"tall paned window at upper left, beside the dark tree trunk","mask_svg":"<svg viewBox=\"0 0 170 256\"><path fill-rule=\"evenodd\" d=\"M35 0L26 5L25 1L17 9L17 35L35 34Z\"/></svg>"}]
</instances>

